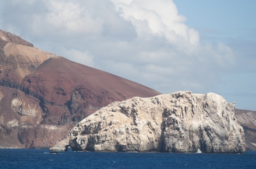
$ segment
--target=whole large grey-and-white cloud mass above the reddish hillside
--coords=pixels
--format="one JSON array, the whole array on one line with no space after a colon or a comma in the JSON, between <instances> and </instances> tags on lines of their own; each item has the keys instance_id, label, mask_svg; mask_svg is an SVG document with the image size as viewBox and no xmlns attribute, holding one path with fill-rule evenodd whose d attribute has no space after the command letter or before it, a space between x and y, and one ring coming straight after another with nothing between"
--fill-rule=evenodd
<instances>
[{"instance_id":1,"label":"whole large grey-and-white cloud mass above the reddish hillside","mask_svg":"<svg viewBox=\"0 0 256 169\"><path fill-rule=\"evenodd\" d=\"M5 2L1 29L162 93L210 92L235 64L224 43L200 42L170 0L19 2Z\"/></svg>"}]
</instances>

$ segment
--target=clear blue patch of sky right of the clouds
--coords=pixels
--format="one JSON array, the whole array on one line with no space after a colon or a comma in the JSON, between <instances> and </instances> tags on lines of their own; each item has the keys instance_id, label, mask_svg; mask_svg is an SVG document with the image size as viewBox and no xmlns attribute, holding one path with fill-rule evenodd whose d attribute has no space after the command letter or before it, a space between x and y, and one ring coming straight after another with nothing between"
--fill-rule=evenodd
<instances>
[{"instance_id":1,"label":"clear blue patch of sky right of the clouds","mask_svg":"<svg viewBox=\"0 0 256 169\"><path fill-rule=\"evenodd\" d=\"M202 42L221 41L240 57L235 69L220 75L213 89L237 108L256 108L256 1L178 1L179 14L185 15L189 27L199 31Z\"/></svg>"}]
</instances>

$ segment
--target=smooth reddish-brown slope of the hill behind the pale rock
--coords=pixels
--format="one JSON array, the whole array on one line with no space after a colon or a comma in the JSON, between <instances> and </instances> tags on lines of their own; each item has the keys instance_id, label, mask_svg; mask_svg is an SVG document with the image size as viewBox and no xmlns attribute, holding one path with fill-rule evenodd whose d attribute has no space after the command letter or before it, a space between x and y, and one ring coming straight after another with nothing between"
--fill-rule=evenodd
<instances>
[{"instance_id":1,"label":"smooth reddish-brown slope of the hill behind the pale rock","mask_svg":"<svg viewBox=\"0 0 256 169\"><path fill-rule=\"evenodd\" d=\"M70 100L70 92L77 87L83 88L91 95L100 96L98 102L105 102L104 105L136 95L149 97L160 94L138 83L71 62L64 57L45 61L35 72L23 79L22 85L38 92L46 100L54 100L57 105Z\"/></svg>"}]
</instances>

